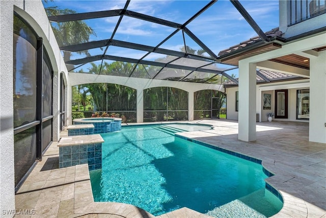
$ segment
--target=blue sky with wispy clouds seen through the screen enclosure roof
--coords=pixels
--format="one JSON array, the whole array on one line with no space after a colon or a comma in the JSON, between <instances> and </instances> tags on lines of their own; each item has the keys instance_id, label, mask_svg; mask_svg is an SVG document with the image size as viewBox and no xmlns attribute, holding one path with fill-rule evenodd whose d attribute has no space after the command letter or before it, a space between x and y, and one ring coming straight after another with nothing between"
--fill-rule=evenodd
<instances>
[{"instance_id":1,"label":"blue sky with wispy clouds seen through the screen enclosure roof","mask_svg":"<svg viewBox=\"0 0 326 218\"><path fill-rule=\"evenodd\" d=\"M186 20L196 14L210 1L138 1L131 0L127 10L166 19L183 24ZM264 31L269 31L279 26L279 1L240 1L241 5L249 12L258 26ZM61 9L69 8L77 13L123 9L125 1L47 1L45 7L58 6ZM85 20L96 33L90 37L90 41L110 39L119 16ZM257 36L248 22L241 16L236 8L228 0L219 0L195 18L186 26L195 34L209 49L218 55L220 51L230 46L239 44L252 37ZM120 26L114 35L114 39L133 43L157 46L162 40L174 32L174 28L162 26L156 23L124 16ZM199 50L201 47L187 34L184 34L186 45L192 49ZM170 38L160 47L180 51L183 46L182 32ZM103 54L103 48L89 51L91 55ZM147 52L123 49L110 46L106 54L141 58ZM207 54L206 54L207 55ZM83 58L85 55L72 54L71 59ZM161 54L152 54L145 60L155 60L164 57ZM224 66L222 66L223 68ZM230 66L226 65L226 68ZM228 72L235 73L237 70Z\"/></svg>"}]
</instances>

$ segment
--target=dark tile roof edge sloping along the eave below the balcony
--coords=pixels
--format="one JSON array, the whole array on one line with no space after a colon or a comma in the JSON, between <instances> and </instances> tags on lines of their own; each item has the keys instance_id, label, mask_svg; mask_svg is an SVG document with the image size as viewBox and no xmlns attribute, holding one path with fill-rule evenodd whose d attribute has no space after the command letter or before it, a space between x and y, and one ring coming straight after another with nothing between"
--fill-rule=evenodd
<instances>
[{"instance_id":1,"label":"dark tile roof edge sloping along the eave below the balcony","mask_svg":"<svg viewBox=\"0 0 326 218\"><path fill-rule=\"evenodd\" d=\"M276 36L281 36L282 35L282 31L279 30L279 28L274 28L268 32L265 33L267 37L276 37ZM230 54L232 52L238 51L240 49L243 49L244 47L248 46L248 45L252 45L254 43L260 42L262 41L261 38L259 36L255 36L247 41L243 41L240 42L237 45L233 45L231 47L229 47L229 49L226 50L222 50L218 56L223 56L223 55L227 55Z\"/></svg>"}]
</instances>

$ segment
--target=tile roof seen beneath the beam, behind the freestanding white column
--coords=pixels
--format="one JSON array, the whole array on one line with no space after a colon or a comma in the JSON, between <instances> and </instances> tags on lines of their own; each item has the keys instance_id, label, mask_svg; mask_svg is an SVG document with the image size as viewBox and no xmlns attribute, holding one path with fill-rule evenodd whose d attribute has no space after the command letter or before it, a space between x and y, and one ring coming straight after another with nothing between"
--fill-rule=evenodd
<instances>
[{"instance_id":1,"label":"tile roof seen beneath the beam, behind the freestanding white column","mask_svg":"<svg viewBox=\"0 0 326 218\"><path fill-rule=\"evenodd\" d=\"M303 77L299 76L293 76L290 74L282 74L281 72L275 72L270 70L264 70L264 69L257 69L258 72L260 72L263 76L265 76L267 79L270 80L270 82L278 82L282 80L295 80L295 79L303 79ZM239 78L236 78L236 80L239 80ZM267 82L258 75L256 75L256 81L257 83L263 83ZM223 83L223 85L237 85L235 82L229 80L228 82Z\"/></svg>"}]
</instances>

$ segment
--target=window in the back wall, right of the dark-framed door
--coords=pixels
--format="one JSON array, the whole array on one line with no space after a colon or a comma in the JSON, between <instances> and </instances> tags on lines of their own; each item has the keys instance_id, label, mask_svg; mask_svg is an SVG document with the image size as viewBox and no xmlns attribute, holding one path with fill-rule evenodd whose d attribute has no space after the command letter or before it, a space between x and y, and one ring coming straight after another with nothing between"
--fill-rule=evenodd
<instances>
[{"instance_id":1,"label":"window in the back wall, right of the dark-framed door","mask_svg":"<svg viewBox=\"0 0 326 218\"><path fill-rule=\"evenodd\" d=\"M309 89L296 91L296 119L309 119Z\"/></svg>"}]
</instances>

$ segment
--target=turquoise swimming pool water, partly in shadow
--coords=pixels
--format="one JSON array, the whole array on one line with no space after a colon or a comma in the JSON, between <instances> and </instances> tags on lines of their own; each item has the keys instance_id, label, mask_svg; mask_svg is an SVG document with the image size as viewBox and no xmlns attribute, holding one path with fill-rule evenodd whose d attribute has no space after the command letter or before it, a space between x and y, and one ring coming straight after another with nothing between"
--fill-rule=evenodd
<instances>
[{"instance_id":1,"label":"turquoise swimming pool water, partly in shadow","mask_svg":"<svg viewBox=\"0 0 326 218\"><path fill-rule=\"evenodd\" d=\"M90 171L95 201L128 203L154 215L188 207L213 216L264 217L282 208L265 189L260 164L161 128L101 134L102 169Z\"/></svg>"}]
</instances>

